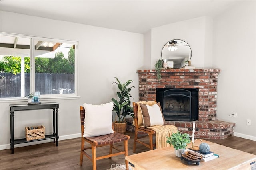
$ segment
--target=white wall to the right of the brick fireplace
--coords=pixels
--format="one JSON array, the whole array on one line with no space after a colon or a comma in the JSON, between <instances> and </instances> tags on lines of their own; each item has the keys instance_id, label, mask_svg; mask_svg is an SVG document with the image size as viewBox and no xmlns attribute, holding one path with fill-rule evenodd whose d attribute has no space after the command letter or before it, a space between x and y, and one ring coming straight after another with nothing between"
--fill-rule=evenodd
<instances>
[{"instance_id":1,"label":"white wall to the right of the brick fireplace","mask_svg":"<svg viewBox=\"0 0 256 170\"><path fill-rule=\"evenodd\" d=\"M221 68L217 117L235 122L235 135L256 140L256 2L214 18L213 35L213 65ZM233 112L238 118L229 116Z\"/></svg>"}]
</instances>

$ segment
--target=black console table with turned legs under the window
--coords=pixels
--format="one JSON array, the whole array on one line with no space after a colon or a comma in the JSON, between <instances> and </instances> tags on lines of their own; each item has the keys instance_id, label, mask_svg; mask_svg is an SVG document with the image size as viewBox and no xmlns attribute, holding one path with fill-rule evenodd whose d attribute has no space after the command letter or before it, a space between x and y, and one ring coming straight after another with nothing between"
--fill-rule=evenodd
<instances>
[{"instance_id":1,"label":"black console table with turned legs under the window","mask_svg":"<svg viewBox=\"0 0 256 170\"><path fill-rule=\"evenodd\" d=\"M12 154L14 153L14 145L18 143L27 143L27 142L33 142L33 141L41 141L46 139L53 139L53 143L55 143L56 139L56 146L58 146L58 119L59 119L59 104L56 102L52 103L42 103L42 104L34 104L34 105L28 105L28 104L10 104L10 129L11 129L11 139L10 139L10 145ZM14 139L14 111L26 111L26 110L40 110L40 109L53 109L53 133L52 135L45 135L44 139L36 139L27 141L26 138L23 139ZM56 111L55 111L56 110ZM56 133L55 133L55 127L56 127Z\"/></svg>"}]
</instances>

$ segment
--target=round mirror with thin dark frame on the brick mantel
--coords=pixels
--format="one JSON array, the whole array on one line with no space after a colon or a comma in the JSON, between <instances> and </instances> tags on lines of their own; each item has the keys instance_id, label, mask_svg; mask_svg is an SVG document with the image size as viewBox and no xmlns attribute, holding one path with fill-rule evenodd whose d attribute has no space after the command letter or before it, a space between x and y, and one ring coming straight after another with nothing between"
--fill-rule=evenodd
<instances>
[{"instance_id":1,"label":"round mirror with thin dark frame on the brick mantel","mask_svg":"<svg viewBox=\"0 0 256 170\"><path fill-rule=\"evenodd\" d=\"M181 39L168 41L162 49L162 60L169 68L182 68L191 60L192 50Z\"/></svg>"}]
</instances>

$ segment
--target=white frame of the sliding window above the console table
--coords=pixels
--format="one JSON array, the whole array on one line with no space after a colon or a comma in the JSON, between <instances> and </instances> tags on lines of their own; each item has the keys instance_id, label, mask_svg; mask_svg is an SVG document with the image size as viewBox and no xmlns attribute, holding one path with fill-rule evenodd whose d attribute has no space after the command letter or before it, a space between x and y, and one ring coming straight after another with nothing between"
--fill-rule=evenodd
<instances>
[{"instance_id":1,"label":"white frame of the sliding window above the console table","mask_svg":"<svg viewBox=\"0 0 256 170\"><path fill-rule=\"evenodd\" d=\"M30 39L30 92L35 91L35 56L34 56L34 40L41 41L58 41L62 43L70 43L75 45L75 73L74 73L74 87L75 92L72 94L44 94L40 95L40 101L43 100L56 100L56 99L78 99L78 41L69 41L63 39L52 39L52 38L44 38L44 37L35 37L29 35L20 35L20 34L12 34L12 33L3 33L0 32L1 35L7 36L16 36L16 37L24 37ZM28 54L29 55L29 54ZM13 97L13 98L0 98L0 103L2 102L19 102L19 101L27 101L24 97Z\"/></svg>"}]
</instances>

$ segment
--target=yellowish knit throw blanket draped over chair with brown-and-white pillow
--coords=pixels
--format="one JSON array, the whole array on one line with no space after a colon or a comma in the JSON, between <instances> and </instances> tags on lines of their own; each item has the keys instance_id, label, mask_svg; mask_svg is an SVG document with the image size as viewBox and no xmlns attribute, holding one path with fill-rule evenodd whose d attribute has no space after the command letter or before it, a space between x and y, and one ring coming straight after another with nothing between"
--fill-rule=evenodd
<instances>
[{"instance_id":1,"label":"yellowish knit throw blanket draped over chair with brown-and-white pillow","mask_svg":"<svg viewBox=\"0 0 256 170\"><path fill-rule=\"evenodd\" d=\"M143 116L142 116L142 111L140 108L140 103L141 104L147 104L149 106L152 106L156 104L156 101L140 101L137 102L138 104L138 126L143 126ZM133 125L134 121L133 121ZM152 129L156 132L156 149L162 148L162 147L167 147L169 144L166 143L166 137L169 137L172 135L172 133L176 133L178 131L176 126L173 125L155 125L151 127L147 127L148 129Z\"/></svg>"}]
</instances>

